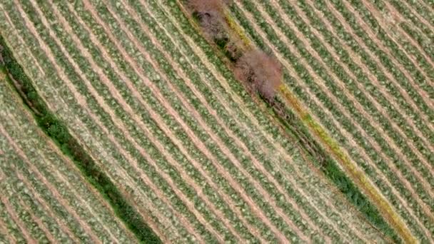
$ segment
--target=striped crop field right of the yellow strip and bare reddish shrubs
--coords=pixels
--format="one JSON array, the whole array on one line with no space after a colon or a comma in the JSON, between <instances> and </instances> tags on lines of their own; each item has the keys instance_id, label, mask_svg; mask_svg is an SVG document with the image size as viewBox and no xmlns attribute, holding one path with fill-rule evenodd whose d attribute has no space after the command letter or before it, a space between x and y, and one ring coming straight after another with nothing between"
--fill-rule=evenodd
<instances>
[{"instance_id":1,"label":"striped crop field right of the yellow strip and bare reddish shrubs","mask_svg":"<svg viewBox=\"0 0 434 244\"><path fill-rule=\"evenodd\" d=\"M281 61L284 81L413 235L433 241L433 43L423 43L433 26L410 27L429 20L410 14L416 5L234 1L230 10ZM389 16L401 22L390 24Z\"/></svg>"}]
</instances>

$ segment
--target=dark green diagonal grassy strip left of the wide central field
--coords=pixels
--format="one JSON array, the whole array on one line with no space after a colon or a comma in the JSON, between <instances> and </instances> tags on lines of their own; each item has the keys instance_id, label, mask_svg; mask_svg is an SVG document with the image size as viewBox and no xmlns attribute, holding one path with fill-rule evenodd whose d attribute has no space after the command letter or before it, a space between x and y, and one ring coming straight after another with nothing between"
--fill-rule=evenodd
<instances>
[{"instance_id":1,"label":"dark green diagonal grassy strip left of the wide central field","mask_svg":"<svg viewBox=\"0 0 434 244\"><path fill-rule=\"evenodd\" d=\"M128 204L109 177L96 166L91 156L71 136L64 123L49 111L44 100L36 92L29 77L24 73L23 68L14 59L3 36L0 36L0 57L3 59L3 63L0 62L0 69L9 73L19 83L19 87L10 78L6 77L6 80L16 88L26 106L29 106L42 131L59 146L66 156L69 156L74 161L87 181L103 195L113 208L114 213L136 235L136 238L141 243L161 243L160 238L141 218L141 215L136 212L132 205Z\"/></svg>"}]
</instances>

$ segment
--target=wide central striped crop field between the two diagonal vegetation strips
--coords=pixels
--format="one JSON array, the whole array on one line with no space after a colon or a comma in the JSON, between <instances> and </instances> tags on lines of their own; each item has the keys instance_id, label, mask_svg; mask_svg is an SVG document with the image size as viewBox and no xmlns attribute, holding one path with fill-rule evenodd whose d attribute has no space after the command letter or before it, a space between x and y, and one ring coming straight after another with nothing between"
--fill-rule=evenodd
<instances>
[{"instance_id":1,"label":"wide central striped crop field between the two diagonal vegetation strips","mask_svg":"<svg viewBox=\"0 0 434 244\"><path fill-rule=\"evenodd\" d=\"M0 6L1 34L36 91L161 240L383 238L173 1Z\"/></svg>"}]
</instances>

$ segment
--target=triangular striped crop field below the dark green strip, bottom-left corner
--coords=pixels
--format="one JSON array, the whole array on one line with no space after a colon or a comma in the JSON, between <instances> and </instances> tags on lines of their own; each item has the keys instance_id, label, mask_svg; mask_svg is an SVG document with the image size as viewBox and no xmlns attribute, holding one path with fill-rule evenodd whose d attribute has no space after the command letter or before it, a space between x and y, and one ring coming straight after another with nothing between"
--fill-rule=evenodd
<instances>
[{"instance_id":1,"label":"triangular striped crop field below the dark green strip, bottom-left corner","mask_svg":"<svg viewBox=\"0 0 434 244\"><path fill-rule=\"evenodd\" d=\"M2 71L3 72L3 71ZM6 243L135 242L0 78L0 233Z\"/></svg>"}]
</instances>

